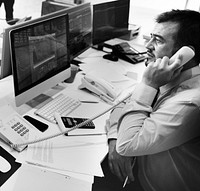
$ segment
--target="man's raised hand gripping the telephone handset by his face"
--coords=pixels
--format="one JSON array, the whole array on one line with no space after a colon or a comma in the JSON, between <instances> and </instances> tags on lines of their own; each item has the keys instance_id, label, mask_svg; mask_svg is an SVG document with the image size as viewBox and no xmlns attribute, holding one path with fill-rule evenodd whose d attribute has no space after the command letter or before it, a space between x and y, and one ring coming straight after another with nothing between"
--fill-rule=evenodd
<instances>
[{"instance_id":1,"label":"man's raised hand gripping the telephone handset by his face","mask_svg":"<svg viewBox=\"0 0 200 191\"><path fill-rule=\"evenodd\" d=\"M142 82L158 89L159 87L174 80L181 72L181 58L178 57L169 65L169 58L164 56L158 58L155 62L148 64L142 78ZM180 68L179 68L180 67Z\"/></svg>"}]
</instances>

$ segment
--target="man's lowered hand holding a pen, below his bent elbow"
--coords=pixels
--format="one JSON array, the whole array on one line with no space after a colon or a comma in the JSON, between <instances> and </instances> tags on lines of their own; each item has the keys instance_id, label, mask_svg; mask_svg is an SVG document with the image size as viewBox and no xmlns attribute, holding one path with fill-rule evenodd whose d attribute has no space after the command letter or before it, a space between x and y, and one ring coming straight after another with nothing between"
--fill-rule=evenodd
<instances>
[{"instance_id":1,"label":"man's lowered hand holding a pen, below his bent elbow","mask_svg":"<svg viewBox=\"0 0 200 191\"><path fill-rule=\"evenodd\" d=\"M121 181L124 181L126 176L129 177L130 181L134 181L132 172L133 157L124 157L116 152L116 140L109 141L109 155L108 164L110 170L115 174Z\"/></svg>"}]
</instances>

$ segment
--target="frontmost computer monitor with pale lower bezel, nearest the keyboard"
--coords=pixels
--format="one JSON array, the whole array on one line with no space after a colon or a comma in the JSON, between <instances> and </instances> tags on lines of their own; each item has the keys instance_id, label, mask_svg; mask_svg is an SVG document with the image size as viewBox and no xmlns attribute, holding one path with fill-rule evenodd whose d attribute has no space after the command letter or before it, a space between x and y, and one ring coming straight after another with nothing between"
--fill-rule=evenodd
<instances>
[{"instance_id":1,"label":"frontmost computer monitor with pale lower bezel, nearest the keyboard","mask_svg":"<svg viewBox=\"0 0 200 191\"><path fill-rule=\"evenodd\" d=\"M70 77L68 24L62 12L10 31L16 106Z\"/></svg>"}]
</instances>

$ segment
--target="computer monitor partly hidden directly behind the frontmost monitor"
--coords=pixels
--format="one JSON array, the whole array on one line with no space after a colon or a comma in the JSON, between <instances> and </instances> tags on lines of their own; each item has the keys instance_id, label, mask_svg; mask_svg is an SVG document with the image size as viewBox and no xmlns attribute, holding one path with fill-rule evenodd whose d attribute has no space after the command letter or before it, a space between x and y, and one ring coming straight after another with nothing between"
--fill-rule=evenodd
<instances>
[{"instance_id":1,"label":"computer monitor partly hidden directly behind the frontmost monitor","mask_svg":"<svg viewBox=\"0 0 200 191\"><path fill-rule=\"evenodd\" d=\"M48 13L42 15L39 18L26 21L17 25L10 26L4 29L3 32L3 42L2 42L2 59L1 59L1 71L0 79L12 74L11 67L11 52L10 52L10 39L9 33L11 30L24 27L26 25L34 24L36 22L43 21L45 19L50 19L57 15L69 14L70 27L68 28L70 32L68 41L68 49L70 53L70 59L72 60L77 55L81 54L92 44L92 15L91 15L91 5L90 3L80 4L71 8L65 8L53 13ZM73 25L73 23L84 22L84 25ZM87 23L87 25L85 25ZM69 25L69 24L68 24ZM77 46L78 45L78 46Z\"/></svg>"}]
</instances>

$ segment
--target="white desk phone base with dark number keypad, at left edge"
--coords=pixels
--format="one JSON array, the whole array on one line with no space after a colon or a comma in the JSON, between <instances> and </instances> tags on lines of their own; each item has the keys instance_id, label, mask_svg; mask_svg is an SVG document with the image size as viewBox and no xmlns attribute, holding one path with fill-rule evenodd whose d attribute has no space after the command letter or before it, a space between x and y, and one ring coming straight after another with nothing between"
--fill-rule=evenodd
<instances>
[{"instance_id":1,"label":"white desk phone base with dark number keypad, at left edge","mask_svg":"<svg viewBox=\"0 0 200 191\"><path fill-rule=\"evenodd\" d=\"M25 121L10 106L1 107L0 111L0 138L9 146L28 142L29 135L33 131L31 124ZM17 151L22 151L27 145L14 147Z\"/></svg>"}]
</instances>

